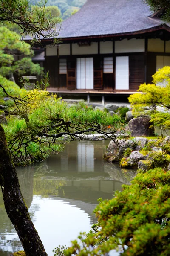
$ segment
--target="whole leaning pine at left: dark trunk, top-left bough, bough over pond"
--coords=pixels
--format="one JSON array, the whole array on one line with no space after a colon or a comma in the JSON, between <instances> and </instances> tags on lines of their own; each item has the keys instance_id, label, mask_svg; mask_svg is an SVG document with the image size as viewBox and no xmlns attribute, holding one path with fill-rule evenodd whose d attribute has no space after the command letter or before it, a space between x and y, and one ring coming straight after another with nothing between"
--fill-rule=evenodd
<instances>
[{"instance_id":1,"label":"whole leaning pine at left: dark trunk, top-left bough, bough over pond","mask_svg":"<svg viewBox=\"0 0 170 256\"><path fill-rule=\"evenodd\" d=\"M43 5L40 9L35 9L35 11L32 12L28 0L0 0L0 21L8 21L10 23L17 24L21 29L23 29L24 36L28 34L33 36L33 42L37 40L39 41L44 37L49 37L53 35L54 32L56 35L56 32L58 32L58 30L56 31L55 29L57 19L55 17L51 17L49 12L46 11L45 5ZM48 81L42 81L41 85L46 84L48 84ZM6 93L5 88L2 86L1 88L3 89L4 93ZM27 110L28 106L32 107L34 105L35 99L38 98L38 95L35 95L33 98L32 95L25 95L23 98L11 96L8 93L6 95L11 97L15 103L16 111L19 111L19 115L23 119L22 122L25 122L28 129L25 131L25 135L20 134L20 142L18 144L19 149L20 146L23 146L23 143L25 143L25 146L28 143L31 144L31 141L29 140L34 140L40 145L41 143L44 143L44 137L47 138L45 143L48 143L49 139L51 142L55 143L56 139L62 136L70 136L73 138L73 136L76 134L82 134L83 132L90 133L93 131L101 131L101 121L103 121L103 119L101 118L99 111L95 113L91 111L91 119L89 119L88 111L85 114L85 111L82 111L81 109L78 116L77 111L74 110L72 111L71 116L66 116L66 120L65 116L61 115L61 109L59 109L58 114L55 113L55 111L52 111L52 116L48 115L49 118L47 120L48 122L45 123L45 129L43 128L44 124L38 124L37 126L35 122L32 123L31 127L29 124L29 117L31 117L31 115L29 116ZM4 107L1 106L1 109L4 109ZM86 107L84 109L86 110ZM105 118L105 116L103 116L103 118ZM73 119L74 123L71 122ZM89 120L90 123L88 122ZM98 122L96 122L96 120ZM45 120L43 121L45 122ZM108 121L109 125L107 123ZM119 123L118 119L112 119L111 116L107 118L107 122L103 127L103 133L105 134L105 129L108 125L108 128L111 129L114 137L114 133L117 128L122 128L122 122ZM81 123L82 129L79 128L79 123ZM30 133L30 137L28 138L28 141L25 141L24 138L27 136L28 131ZM58 134L56 134L56 131ZM40 137L40 140L38 140L37 137ZM11 153L8 149L6 136L2 126L0 126L0 185L3 192L6 212L17 230L26 255L46 256L47 254L45 253L45 249L37 231L34 228L25 201L21 194L16 169L14 167L14 163L12 162Z\"/></svg>"}]
</instances>

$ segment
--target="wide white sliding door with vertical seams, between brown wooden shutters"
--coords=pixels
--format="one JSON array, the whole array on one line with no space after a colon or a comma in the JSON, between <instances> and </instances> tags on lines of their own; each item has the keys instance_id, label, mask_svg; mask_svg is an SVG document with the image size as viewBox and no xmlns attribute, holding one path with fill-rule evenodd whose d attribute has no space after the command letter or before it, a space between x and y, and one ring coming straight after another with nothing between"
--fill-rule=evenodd
<instances>
[{"instance_id":1,"label":"wide white sliding door with vertical seams, between brown wooden shutters","mask_svg":"<svg viewBox=\"0 0 170 256\"><path fill-rule=\"evenodd\" d=\"M93 58L77 58L77 89L94 89Z\"/></svg>"}]
</instances>

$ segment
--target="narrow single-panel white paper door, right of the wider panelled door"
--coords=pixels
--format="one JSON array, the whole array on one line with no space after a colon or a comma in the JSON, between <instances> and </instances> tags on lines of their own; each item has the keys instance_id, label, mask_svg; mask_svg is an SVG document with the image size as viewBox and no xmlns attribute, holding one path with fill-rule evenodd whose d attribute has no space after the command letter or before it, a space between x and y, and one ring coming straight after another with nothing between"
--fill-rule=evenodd
<instances>
[{"instance_id":1,"label":"narrow single-panel white paper door, right of the wider panelled door","mask_svg":"<svg viewBox=\"0 0 170 256\"><path fill-rule=\"evenodd\" d=\"M129 57L116 57L116 90L129 90Z\"/></svg>"}]
</instances>

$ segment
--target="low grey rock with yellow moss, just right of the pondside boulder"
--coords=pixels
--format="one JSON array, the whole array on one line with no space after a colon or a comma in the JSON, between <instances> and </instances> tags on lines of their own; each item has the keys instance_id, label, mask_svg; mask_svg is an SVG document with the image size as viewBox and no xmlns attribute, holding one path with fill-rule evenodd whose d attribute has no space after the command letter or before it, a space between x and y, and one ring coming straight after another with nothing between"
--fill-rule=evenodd
<instances>
[{"instance_id":1,"label":"low grey rock with yellow moss, just right of the pondside boulder","mask_svg":"<svg viewBox=\"0 0 170 256\"><path fill-rule=\"evenodd\" d=\"M122 167L133 167L133 168L137 168L138 167L138 162L140 160L144 160L146 159L146 157L141 154L139 151L133 151L129 157L123 157L120 165Z\"/></svg>"}]
</instances>

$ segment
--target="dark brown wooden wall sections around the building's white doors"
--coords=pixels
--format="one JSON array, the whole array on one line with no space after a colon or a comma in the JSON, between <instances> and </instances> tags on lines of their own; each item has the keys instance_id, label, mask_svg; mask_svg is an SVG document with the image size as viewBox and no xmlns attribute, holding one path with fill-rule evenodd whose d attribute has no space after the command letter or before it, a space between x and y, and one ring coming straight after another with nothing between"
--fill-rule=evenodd
<instances>
[{"instance_id":1,"label":"dark brown wooden wall sections around the building's white doors","mask_svg":"<svg viewBox=\"0 0 170 256\"><path fill-rule=\"evenodd\" d=\"M121 54L122 55L122 54ZM140 84L144 83L145 77L145 56L144 53L124 54L129 56L129 90L138 90ZM164 55L162 53L162 55ZM113 70L115 73L115 58L113 56ZM82 56L79 56L82 57ZM85 57L85 56L83 56ZM94 57L94 89L106 90L113 89L115 84L115 74L103 74L103 56L93 55ZM50 87L67 87L68 90L76 89L76 60L77 56L67 58L67 75L59 75L59 59L57 56L46 56L45 70L49 70ZM147 83L151 83L152 75L156 72L156 53L147 53Z\"/></svg>"}]
</instances>

